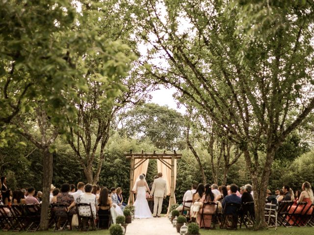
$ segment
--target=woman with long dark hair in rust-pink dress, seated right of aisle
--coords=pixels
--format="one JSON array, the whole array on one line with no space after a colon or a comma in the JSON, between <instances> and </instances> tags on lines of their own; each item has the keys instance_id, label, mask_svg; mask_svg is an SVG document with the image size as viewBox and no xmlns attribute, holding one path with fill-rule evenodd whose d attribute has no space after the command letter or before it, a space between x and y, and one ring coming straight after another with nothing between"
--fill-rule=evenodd
<instances>
[{"instance_id":1,"label":"woman with long dark hair in rust-pink dress, seated right of aisle","mask_svg":"<svg viewBox=\"0 0 314 235\"><path fill-rule=\"evenodd\" d=\"M205 193L202 196L202 206L199 211L199 215L197 217L197 223L199 224L200 227L211 227L211 219L212 215L216 212L216 206L213 205L204 205L205 203L208 202L215 202L215 196L211 191L211 187L209 184L205 185ZM203 219L201 218L203 214ZM204 224L203 224L204 223Z\"/></svg>"}]
</instances>

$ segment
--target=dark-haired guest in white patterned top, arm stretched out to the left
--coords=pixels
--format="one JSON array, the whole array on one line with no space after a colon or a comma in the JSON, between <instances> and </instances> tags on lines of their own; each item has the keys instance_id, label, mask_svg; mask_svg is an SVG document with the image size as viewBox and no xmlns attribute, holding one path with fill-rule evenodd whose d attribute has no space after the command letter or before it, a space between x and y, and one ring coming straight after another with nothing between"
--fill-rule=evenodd
<instances>
[{"instance_id":1,"label":"dark-haired guest in white patterned top, arm stretched out to the left","mask_svg":"<svg viewBox=\"0 0 314 235\"><path fill-rule=\"evenodd\" d=\"M87 203L87 204L91 204L93 217L96 218L97 199L96 199L96 195L92 193L93 186L91 184L87 184L87 185L85 185L84 189L85 189L85 192L82 193L78 197L78 199L71 204L71 206L69 206L68 211L74 209L76 204ZM80 216L85 216L85 217L91 216L90 207L89 206L80 206L78 208L78 214Z\"/></svg>"}]
</instances>

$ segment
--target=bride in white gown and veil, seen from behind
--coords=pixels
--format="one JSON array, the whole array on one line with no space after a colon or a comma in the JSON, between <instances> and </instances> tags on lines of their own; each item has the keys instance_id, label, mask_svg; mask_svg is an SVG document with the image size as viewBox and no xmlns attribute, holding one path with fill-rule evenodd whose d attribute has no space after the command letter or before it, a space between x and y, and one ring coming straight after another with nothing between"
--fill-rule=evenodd
<instances>
[{"instance_id":1,"label":"bride in white gown and veil, seen from behind","mask_svg":"<svg viewBox=\"0 0 314 235\"><path fill-rule=\"evenodd\" d=\"M137 192L134 203L134 217L139 219L152 218L152 212L149 209L146 200L146 190L150 193L144 175L139 176L139 180L135 184L135 191Z\"/></svg>"}]
</instances>

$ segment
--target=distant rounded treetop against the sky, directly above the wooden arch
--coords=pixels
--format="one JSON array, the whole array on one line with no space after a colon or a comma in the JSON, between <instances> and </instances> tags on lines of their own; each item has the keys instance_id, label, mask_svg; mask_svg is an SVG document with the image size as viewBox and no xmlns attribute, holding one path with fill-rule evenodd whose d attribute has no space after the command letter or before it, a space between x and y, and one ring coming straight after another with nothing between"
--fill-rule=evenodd
<instances>
[{"instance_id":1,"label":"distant rounded treetop against the sky, directly above the wooden arch","mask_svg":"<svg viewBox=\"0 0 314 235\"><path fill-rule=\"evenodd\" d=\"M145 103L124 115L127 136L149 138L159 149L183 149L184 118L167 106Z\"/></svg>"}]
</instances>

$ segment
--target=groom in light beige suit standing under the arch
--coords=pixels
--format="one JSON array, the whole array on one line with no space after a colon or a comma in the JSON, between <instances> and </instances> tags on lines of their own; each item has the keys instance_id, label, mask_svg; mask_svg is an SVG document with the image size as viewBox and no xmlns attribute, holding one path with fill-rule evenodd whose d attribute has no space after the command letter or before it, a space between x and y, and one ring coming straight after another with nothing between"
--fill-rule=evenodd
<instances>
[{"instance_id":1,"label":"groom in light beige suit standing under the arch","mask_svg":"<svg viewBox=\"0 0 314 235\"><path fill-rule=\"evenodd\" d=\"M162 200L166 198L167 184L164 179L161 178L162 173L158 173L158 178L154 180L151 196L154 194L154 217L160 217ZM157 212L158 207L158 212Z\"/></svg>"}]
</instances>

